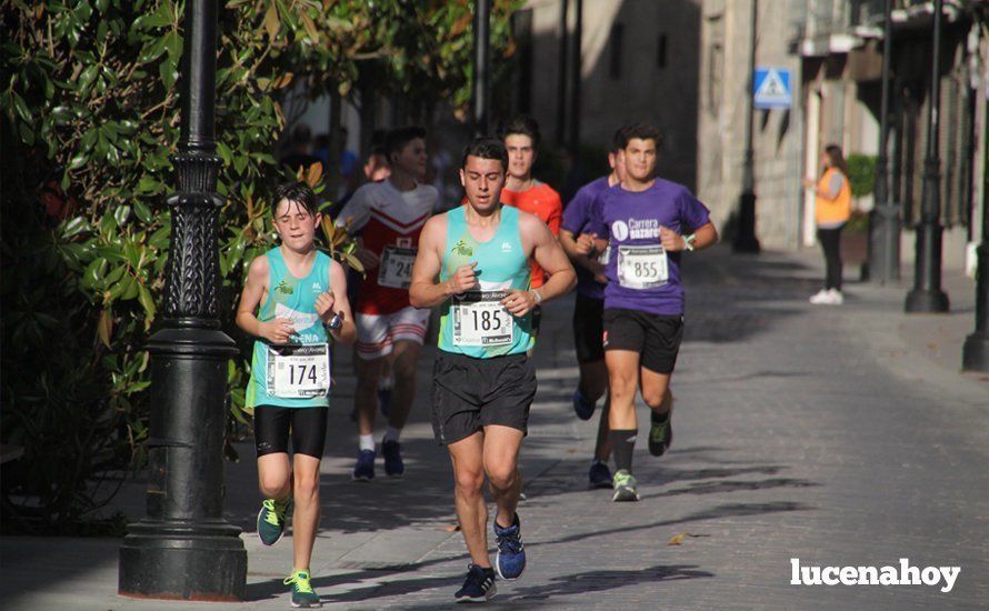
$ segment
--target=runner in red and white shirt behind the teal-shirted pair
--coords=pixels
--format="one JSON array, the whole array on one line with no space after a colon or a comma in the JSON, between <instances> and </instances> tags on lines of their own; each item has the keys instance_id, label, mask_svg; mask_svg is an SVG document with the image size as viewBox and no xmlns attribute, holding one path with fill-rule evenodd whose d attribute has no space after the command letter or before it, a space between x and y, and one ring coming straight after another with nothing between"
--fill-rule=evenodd
<instances>
[{"instance_id":1,"label":"runner in red and white shirt behind the teal-shirted pair","mask_svg":"<svg viewBox=\"0 0 989 611\"><path fill-rule=\"evenodd\" d=\"M354 308L360 358L354 403L360 450L353 479L360 481L374 477L378 381L389 360L394 393L381 453L388 475L404 472L399 435L416 395L416 362L429 321L429 309L409 304L409 283L419 232L439 198L436 188L416 180L424 171L427 161L422 128L390 131L384 148L391 176L358 189L337 221L351 233L361 232L357 257L366 274Z\"/></svg>"}]
</instances>

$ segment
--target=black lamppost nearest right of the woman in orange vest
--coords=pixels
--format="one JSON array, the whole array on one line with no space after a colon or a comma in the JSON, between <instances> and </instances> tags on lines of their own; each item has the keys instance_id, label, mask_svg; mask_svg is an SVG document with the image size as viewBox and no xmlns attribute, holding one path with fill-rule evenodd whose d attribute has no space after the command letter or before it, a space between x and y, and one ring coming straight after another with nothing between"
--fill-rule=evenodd
<instances>
[{"instance_id":1,"label":"black lamppost nearest right of the woman in orange vest","mask_svg":"<svg viewBox=\"0 0 989 611\"><path fill-rule=\"evenodd\" d=\"M876 208L869 217L869 276L886 283L900 279L900 209L889 198L889 90L892 61L892 0L885 0L882 101L879 111L879 157L876 159Z\"/></svg>"}]
</instances>

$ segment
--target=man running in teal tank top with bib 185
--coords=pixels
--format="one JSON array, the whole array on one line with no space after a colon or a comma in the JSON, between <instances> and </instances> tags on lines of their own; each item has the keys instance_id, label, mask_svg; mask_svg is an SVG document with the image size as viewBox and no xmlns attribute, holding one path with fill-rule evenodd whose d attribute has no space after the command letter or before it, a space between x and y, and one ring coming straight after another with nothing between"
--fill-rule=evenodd
<instances>
[{"instance_id":1,"label":"man running in teal tank top with bib 185","mask_svg":"<svg viewBox=\"0 0 989 611\"><path fill-rule=\"evenodd\" d=\"M450 452L457 518L471 560L458 601L494 594L484 475L498 507L498 575L518 579L526 568L516 507L519 448L536 395L536 368L527 355L531 312L577 282L546 223L500 203L507 167L500 141L468 146L460 170L468 201L426 223L409 290L417 308L441 307L432 425ZM537 290L529 284L531 259L550 273Z\"/></svg>"}]
</instances>

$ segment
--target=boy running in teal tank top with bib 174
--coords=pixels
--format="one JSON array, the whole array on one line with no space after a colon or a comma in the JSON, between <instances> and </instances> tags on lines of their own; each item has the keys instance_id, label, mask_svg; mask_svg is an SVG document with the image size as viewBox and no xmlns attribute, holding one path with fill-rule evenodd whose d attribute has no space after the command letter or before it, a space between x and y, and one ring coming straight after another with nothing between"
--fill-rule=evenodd
<instances>
[{"instance_id":1,"label":"boy running in teal tank top with bib 174","mask_svg":"<svg viewBox=\"0 0 989 611\"><path fill-rule=\"evenodd\" d=\"M302 182L282 186L272 210L281 246L251 262L237 324L257 338L246 405L254 411L264 497L258 538L266 545L278 542L294 505L293 569L286 584L292 585L292 607L309 608L320 605L309 561L319 527L319 463L332 380L327 333L352 343L357 330L343 268L313 244L320 223L316 194Z\"/></svg>"}]
</instances>

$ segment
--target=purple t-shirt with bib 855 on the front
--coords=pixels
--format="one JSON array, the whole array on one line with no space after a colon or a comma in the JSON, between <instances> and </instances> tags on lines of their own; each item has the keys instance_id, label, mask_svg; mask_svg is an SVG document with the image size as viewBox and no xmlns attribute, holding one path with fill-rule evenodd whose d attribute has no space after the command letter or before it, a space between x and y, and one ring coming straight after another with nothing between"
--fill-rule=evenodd
<instances>
[{"instance_id":1,"label":"purple t-shirt with bib 855 on the front","mask_svg":"<svg viewBox=\"0 0 989 611\"><path fill-rule=\"evenodd\" d=\"M668 180L657 178L640 192L621 187L602 192L588 231L607 236L611 249L605 308L682 314L680 253L656 248L661 244L659 228L688 234L709 220L710 211L689 189Z\"/></svg>"}]
</instances>

